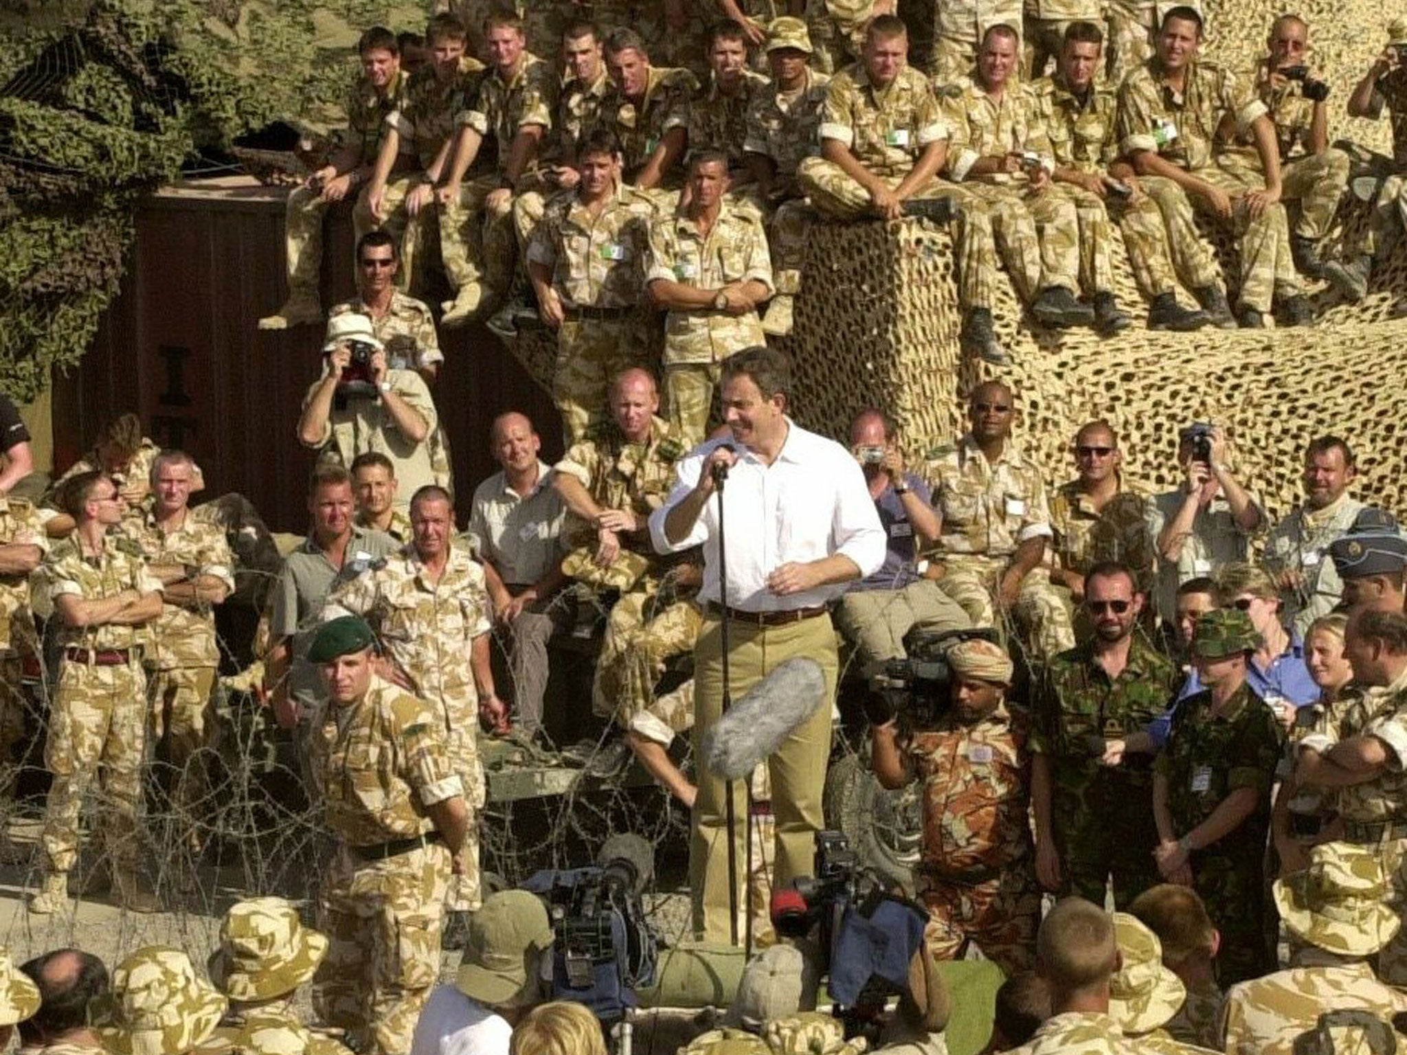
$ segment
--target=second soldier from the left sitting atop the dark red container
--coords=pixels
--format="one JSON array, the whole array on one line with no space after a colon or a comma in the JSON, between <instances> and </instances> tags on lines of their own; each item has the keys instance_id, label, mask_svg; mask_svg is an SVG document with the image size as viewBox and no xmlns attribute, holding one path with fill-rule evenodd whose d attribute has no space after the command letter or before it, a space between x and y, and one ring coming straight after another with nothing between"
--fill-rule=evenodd
<instances>
[{"instance_id":1,"label":"second soldier from the left sitting atop the dark red container","mask_svg":"<svg viewBox=\"0 0 1407 1055\"><path fill-rule=\"evenodd\" d=\"M411 293L425 287L426 236L435 231L425 218L414 229L411 221L429 210L435 186L449 173L457 108L461 100L474 98L484 75L484 63L464 51L467 38L454 15L431 18L425 28L431 59L411 77L401 104L386 118L376 167L352 210L359 241L369 231L386 229L401 242L401 288Z\"/></svg>"}]
</instances>

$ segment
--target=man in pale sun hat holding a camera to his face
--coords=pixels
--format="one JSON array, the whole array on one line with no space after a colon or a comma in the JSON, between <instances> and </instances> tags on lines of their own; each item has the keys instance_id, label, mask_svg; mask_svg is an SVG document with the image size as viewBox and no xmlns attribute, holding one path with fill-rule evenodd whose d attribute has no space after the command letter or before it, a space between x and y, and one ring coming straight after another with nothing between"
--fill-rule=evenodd
<instances>
[{"instance_id":1,"label":"man in pale sun hat holding a camera to his face","mask_svg":"<svg viewBox=\"0 0 1407 1055\"><path fill-rule=\"evenodd\" d=\"M298 440L321 459L350 466L369 450L386 454L401 485L397 508L428 484L439 484L426 439L439 422L425 381L393 370L386 346L366 315L328 322L322 377L312 383L298 418Z\"/></svg>"}]
</instances>

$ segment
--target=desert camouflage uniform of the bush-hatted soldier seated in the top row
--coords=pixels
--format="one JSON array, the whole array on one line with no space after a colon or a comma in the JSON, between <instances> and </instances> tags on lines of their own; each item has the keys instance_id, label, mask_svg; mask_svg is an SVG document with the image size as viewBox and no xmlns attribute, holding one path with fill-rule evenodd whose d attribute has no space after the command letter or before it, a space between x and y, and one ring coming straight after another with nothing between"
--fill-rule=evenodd
<instances>
[{"instance_id":1,"label":"desert camouflage uniform of the bush-hatted soldier seated in the top row","mask_svg":"<svg viewBox=\"0 0 1407 1055\"><path fill-rule=\"evenodd\" d=\"M743 153L771 158L777 169L774 190L782 191L782 201L767 221L767 235L772 253L772 280L777 293L801 293L801 269L806 259L806 235L815 215L806 205L796 180L796 170L806 158L816 156L816 136L820 114L826 104L830 77L806 70L806 84L795 96L785 96L768 82L754 96L747 108L747 128Z\"/></svg>"}]
</instances>

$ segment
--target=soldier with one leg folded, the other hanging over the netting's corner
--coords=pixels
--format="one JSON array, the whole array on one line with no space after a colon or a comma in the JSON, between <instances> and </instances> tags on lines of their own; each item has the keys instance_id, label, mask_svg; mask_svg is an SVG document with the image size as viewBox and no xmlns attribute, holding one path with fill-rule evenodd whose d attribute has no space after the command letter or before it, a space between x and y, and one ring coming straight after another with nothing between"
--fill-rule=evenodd
<instances>
[{"instance_id":1,"label":"soldier with one leg folded, the other hanging over the netting's corner","mask_svg":"<svg viewBox=\"0 0 1407 1055\"><path fill-rule=\"evenodd\" d=\"M996 253L986 208L936 179L948 158L947 139L931 86L909 66L908 28L881 15L865 31L862 62L826 89L820 156L801 162L798 180L819 211L839 219L955 215L962 350L1010 363L992 329Z\"/></svg>"}]
</instances>

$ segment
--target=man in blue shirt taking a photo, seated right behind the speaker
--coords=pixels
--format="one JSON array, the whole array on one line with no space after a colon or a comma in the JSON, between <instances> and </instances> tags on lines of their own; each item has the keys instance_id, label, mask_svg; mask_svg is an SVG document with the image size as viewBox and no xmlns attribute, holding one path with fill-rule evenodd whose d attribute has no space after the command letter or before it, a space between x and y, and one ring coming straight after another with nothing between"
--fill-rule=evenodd
<instances>
[{"instance_id":1,"label":"man in blue shirt taking a photo, seated right behind the speaker","mask_svg":"<svg viewBox=\"0 0 1407 1055\"><path fill-rule=\"evenodd\" d=\"M905 471L893 422L881 411L861 411L850 425L850 449L879 513L885 557L879 571L853 582L840 598L836 623L861 663L903 658L910 627L960 630L972 620L917 570L915 557L937 542L940 525L929 485Z\"/></svg>"}]
</instances>

